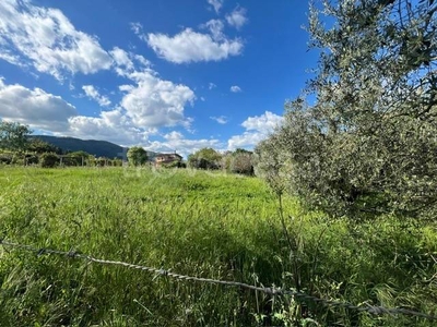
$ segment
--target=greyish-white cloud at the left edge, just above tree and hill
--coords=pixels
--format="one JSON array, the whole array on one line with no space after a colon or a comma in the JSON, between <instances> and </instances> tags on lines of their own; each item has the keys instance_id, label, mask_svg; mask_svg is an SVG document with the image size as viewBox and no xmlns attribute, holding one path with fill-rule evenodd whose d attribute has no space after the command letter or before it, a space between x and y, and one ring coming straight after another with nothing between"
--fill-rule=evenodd
<instances>
[{"instance_id":1,"label":"greyish-white cloud at the left edge, just above tree and hill","mask_svg":"<svg viewBox=\"0 0 437 327\"><path fill-rule=\"evenodd\" d=\"M68 130L68 120L76 116L74 106L40 88L5 85L0 80L0 117L47 131Z\"/></svg>"}]
</instances>

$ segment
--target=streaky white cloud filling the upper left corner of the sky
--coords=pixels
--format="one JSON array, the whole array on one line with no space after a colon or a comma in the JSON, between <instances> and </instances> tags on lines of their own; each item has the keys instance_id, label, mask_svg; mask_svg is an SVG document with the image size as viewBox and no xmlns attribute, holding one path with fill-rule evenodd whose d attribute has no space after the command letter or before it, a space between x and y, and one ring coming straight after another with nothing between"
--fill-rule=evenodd
<instances>
[{"instance_id":1,"label":"streaky white cloud filling the upper left corner of the sky","mask_svg":"<svg viewBox=\"0 0 437 327\"><path fill-rule=\"evenodd\" d=\"M60 10L16 0L0 2L0 58L58 80L111 66L97 38L76 31Z\"/></svg>"}]
</instances>

